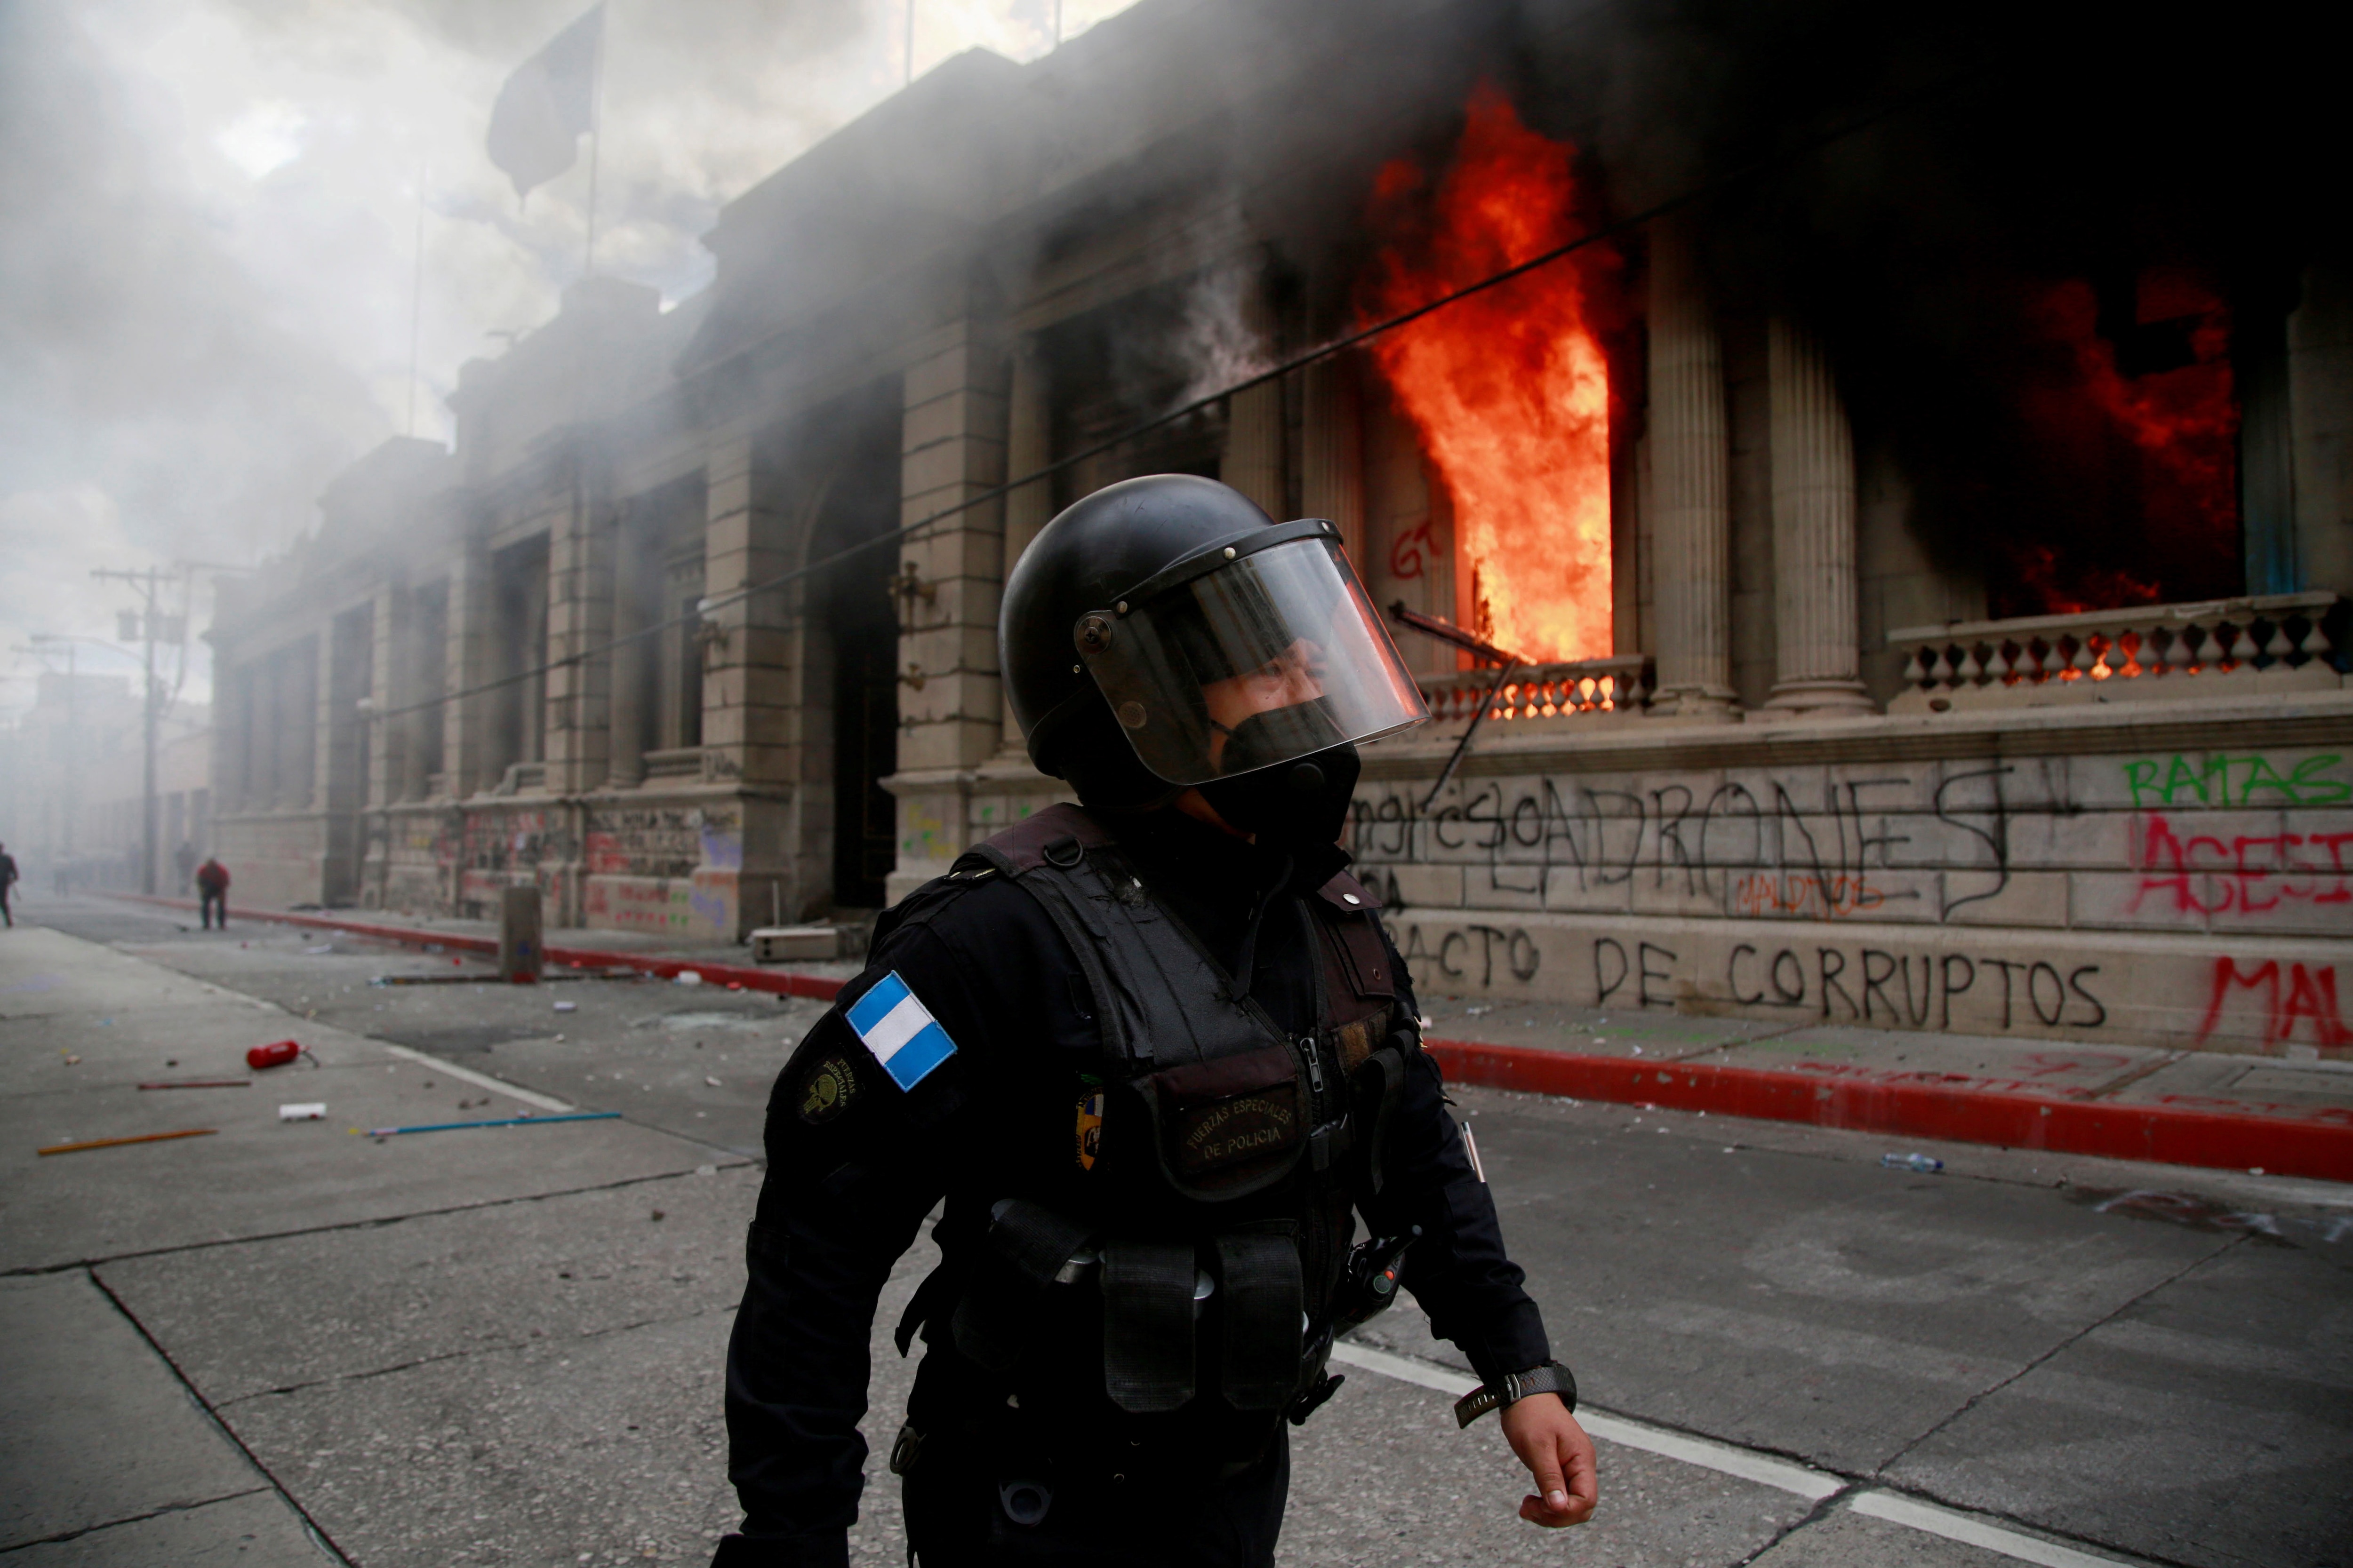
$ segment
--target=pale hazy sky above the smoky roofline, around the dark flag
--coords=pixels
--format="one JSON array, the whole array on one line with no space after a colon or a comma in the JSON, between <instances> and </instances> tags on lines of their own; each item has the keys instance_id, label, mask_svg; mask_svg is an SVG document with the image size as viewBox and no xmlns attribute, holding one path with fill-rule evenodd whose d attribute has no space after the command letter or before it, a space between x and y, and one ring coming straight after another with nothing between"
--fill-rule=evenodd
<instances>
[{"instance_id":1,"label":"pale hazy sky above the smoky roofline, around the dark flag","mask_svg":"<svg viewBox=\"0 0 2353 1568\"><path fill-rule=\"evenodd\" d=\"M1073 38L1132 0L1064 0ZM252 564L581 275L588 160L518 202L489 106L584 0L0 0L0 722L92 567ZM906 0L609 0L598 270L701 289L718 207L904 82ZM1054 0L915 0L915 73ZM421 200L419 200L421 197ZM198 597L195 623L207 623ZM132 661L82 654L85 670ZM202 701L205 670L188 696Z\"/></svg>"}]
</instances>

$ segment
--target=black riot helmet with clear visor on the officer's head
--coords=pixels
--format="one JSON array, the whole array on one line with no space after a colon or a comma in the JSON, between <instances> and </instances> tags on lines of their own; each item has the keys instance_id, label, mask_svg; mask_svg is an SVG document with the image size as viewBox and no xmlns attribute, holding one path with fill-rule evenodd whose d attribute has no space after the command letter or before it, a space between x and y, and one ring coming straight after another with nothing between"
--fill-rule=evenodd
<instances>
[{"instance_id":1,"label":"black riot helmet with clear visor on the officer's head","mask_svg":"<svg viewBox=\"0 0 2353 1568\"><path fill-rule=\"evenodd\" d=\"M1080 799L1151 806L1200 785L1245 830L1273 825L1254 790L1346 795L1358 741L1428 717L1339 529L1278 524L1193 475L1125 480L1054 517L1005 583L998 651L1031 759Z\"/></svg>"}]
</instances>

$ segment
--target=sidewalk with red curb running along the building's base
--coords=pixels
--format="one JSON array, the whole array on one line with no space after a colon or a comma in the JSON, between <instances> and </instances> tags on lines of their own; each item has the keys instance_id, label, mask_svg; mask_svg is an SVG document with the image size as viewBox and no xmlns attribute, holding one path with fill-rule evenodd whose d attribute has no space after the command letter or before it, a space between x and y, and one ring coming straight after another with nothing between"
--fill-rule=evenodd
<instances>
[{"instance_id":1,"label":"sidewalk with red curb running along the building's base","mask_svg":"<svg viewBox=\"0 0 2353 1568\"><path fill-rule=\"evenodd\" d=\"M240 919L496 952L489 922L259 910ZM661 978L692 969L713 985L814 999L831 999L859 969L762 969L744 961L741 945L678 947L616 931L551 931L546 952L553 964ZM2353 1182L2353 1063L1454 997L1424 1006L1431 1056L1452 1081L1482 1088Z\"/></svg>"}]
</instances>

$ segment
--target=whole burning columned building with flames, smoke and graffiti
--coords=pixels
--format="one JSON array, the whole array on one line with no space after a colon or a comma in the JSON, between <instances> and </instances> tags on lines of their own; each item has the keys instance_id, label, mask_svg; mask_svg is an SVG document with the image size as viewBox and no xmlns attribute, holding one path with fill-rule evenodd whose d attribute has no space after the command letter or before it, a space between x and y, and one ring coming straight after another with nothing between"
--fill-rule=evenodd
<instances>
[{"instance_id":1,"label":"whole burning columned building with flames, smoke and graffiti","mask_svg":"<svg viewBox=\"0 0 2353 1568\"><path fill-rule=\"evenodd\" d=\"M224 604L224 853L854 919L1061 792L1005 567L1202 473L1395 607L1435 724L1351 849L1424 990L2341 1053L2353 247L2308 52L2200 26L1144 0L953 59Z\"/></svg>"}]
</instances>

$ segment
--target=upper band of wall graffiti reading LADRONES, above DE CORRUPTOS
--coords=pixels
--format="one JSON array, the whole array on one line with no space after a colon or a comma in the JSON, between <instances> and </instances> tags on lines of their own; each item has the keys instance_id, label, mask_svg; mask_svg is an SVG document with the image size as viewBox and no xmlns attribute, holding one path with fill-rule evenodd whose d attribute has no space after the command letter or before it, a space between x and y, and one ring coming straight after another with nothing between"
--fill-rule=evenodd
<instances>
[{"instance_id":1,"label":"upper band of wall graffiti reading LADRONES, above DE CORRUPTOS","mask_svg":"<svg viewBox=\"0 0 2353 1568\"><path fill-rule=\"evenodd\" d=\"M1435 867L1461 907L2353 933L2337 752L1529 776L1428 811L1400 780L1360 790L1348 849L1393 905ZM2031 907L1998 903L2028 872Z\"/></svg>"}]
</instances>

